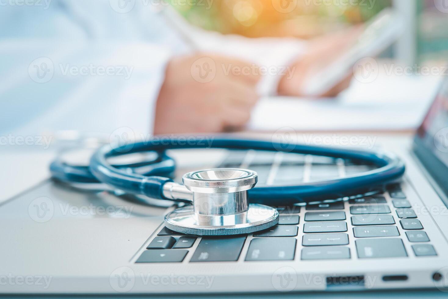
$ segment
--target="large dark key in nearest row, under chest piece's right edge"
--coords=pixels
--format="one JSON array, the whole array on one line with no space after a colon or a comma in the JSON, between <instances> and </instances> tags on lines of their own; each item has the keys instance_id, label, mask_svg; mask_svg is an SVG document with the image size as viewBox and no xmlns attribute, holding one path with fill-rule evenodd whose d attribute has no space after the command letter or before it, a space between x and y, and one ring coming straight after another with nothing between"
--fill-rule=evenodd
<instances>
[{"instance_id":1,"label":"large dark key in nearest row, under chest piece's right edge","mask_svg":"<svg viewBox=\"0 0 448 299\"><path fill-rule=\"evenodd\" d=\"M292 261L295 238L255 238L250 241L246 261Z\"/></svg>"}]
</instances>

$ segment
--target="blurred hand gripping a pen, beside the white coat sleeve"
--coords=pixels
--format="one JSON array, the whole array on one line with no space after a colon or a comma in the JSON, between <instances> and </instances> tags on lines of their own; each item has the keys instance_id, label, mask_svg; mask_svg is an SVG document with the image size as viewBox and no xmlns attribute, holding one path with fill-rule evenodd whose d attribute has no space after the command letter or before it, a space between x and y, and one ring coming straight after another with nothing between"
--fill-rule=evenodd
<instances>
[{"instance_id":1,"label":"blurred hand gripping a pen, beside the white coat sleeve","mask_svg":"<svg viewBox=\"0 0 448 299\"><path fill-rule=\"evenodd\" d=\"M244 61L204 53L174 58L157 99L154 133L240 128L258 99L259 76L253 68Z\"/></svg>"}]
</instances>

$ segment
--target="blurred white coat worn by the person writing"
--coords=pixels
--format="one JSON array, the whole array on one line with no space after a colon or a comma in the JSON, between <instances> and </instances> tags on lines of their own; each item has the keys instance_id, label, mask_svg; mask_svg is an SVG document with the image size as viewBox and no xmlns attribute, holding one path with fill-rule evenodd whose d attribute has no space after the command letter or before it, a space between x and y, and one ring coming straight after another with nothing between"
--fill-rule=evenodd
<instances>
[{"instance_id":1,"label":"blurred white coat worn by the person writing","mask_svg":"<svg viewBox=\"0 0 448 299\"><path fill-rule=\"evenodd\" d=\"M131 128L136 137L151 133L165 65L189 46L150 3L0 0L0 134L59 130L110 134L119 128ZM126 5L132 5L129 11ZM245 40L247 44L249 39ZM302 51L300 44L297 49L288 47L293 51L286 54L278 42L261 43L264 54L259 43L252 48L259 57L267 57L261 61L266 66L281 64L278 59L266 61L275 52L286 63ZM220 45L216 35L199 44L202 50L215 52L223 44L234 48L227 42ZM274 44L277 51L272 51ZM224 54L254 58L254 51L242 47ZM276 84L269 80L260 83L263 93L275 89L266 87Z\"/></svg>"}]
</instances>

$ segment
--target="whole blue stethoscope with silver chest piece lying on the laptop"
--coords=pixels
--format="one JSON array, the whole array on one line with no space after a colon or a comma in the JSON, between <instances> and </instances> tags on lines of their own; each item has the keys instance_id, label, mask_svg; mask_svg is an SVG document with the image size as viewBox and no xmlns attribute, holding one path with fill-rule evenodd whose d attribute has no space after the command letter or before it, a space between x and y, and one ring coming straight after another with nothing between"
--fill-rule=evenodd
<instances>
[{"instance_id":1,"label":"whole blue stethoscope with silver chest piece lying on the laptop","mask_svg":"<svg viewBox=\"0 0 448 299\"><path fill-rule=\"evenodd\" d=\"M214 168L189 172L183 184L167 177L175 170L168 149L204 148L253 149L343 158L373 164L378 168L343 178L304 182L289 186L254 187L257 173L248 169ZM152 158L114 163L123 156L152 153ZM355 196L383 188L405 172L404 163L386 152L330 148L215 138L211 144L179 142L170 138L163 144L151 140L119 145L103 145L90 158L88 167L69 165L56 159L50 166L53 177L70 183L104 183L122 192L159 200L191 203L165 215L165 226L191 235L249 234L274 226L279 213L272 206L323 201Z\"/></svg>"}]
</instances>

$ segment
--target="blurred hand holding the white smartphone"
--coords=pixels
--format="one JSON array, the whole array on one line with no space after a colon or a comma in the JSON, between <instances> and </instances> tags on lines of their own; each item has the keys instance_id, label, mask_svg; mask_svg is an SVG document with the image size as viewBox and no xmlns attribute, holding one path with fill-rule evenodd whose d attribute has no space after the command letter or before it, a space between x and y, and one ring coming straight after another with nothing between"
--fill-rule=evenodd
<instances>
[{"instance_id":1,"label":"blurred hand holding the white smartphone","mask_svg":"<svg viewBox=\"0 0 448 299\"><path fill-rule=\"evenodd\" d=\"M307 54L301 56L293 65L293 76L284 76L280 79L278 93L287 96L304 96L303 84L308 76L312 76L316 70L324 68L336 60L340 53L347 51L358 38L362 27L354 27L338 33L327 34L310 41ZM318 97L334 97L350 85L353 73L341 78L340 82L330 90Z\"/></svg>"}]
</instances>

